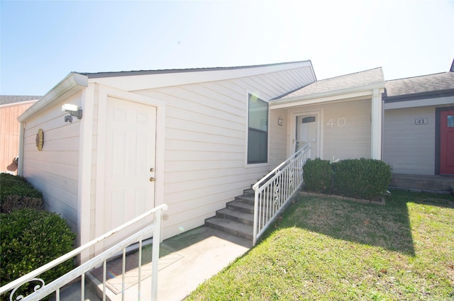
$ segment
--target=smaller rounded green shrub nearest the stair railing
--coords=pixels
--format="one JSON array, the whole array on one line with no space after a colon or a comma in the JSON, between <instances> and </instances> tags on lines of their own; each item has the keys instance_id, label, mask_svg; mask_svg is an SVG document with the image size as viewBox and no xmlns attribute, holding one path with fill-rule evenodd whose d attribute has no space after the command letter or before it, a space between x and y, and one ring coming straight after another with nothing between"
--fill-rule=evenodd
<instances>
[{"instance_id":1,"label":"smaller rounded green shrub nearest the stair railing","mask_svg":"<svg viewBox=\"0 0 454 301\"><path fill-rule=\"evenodd\" d=\"M332 171L328 160L309 159L303 166L304 188L315 193L331 191Z\"/></svg>"}]
</instances>

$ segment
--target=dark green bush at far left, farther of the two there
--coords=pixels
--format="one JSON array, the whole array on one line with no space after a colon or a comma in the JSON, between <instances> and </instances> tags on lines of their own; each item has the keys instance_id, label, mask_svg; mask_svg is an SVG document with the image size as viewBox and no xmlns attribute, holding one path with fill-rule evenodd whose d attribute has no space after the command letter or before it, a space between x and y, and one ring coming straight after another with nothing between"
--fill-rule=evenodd
<instances>
[{"instance_id":1,"label":"dark green bush at far left, farther of the two there","mask_svg":"<svg viewBox=\"0 0 454 301\"><path fill-rule=\"evenodd\" d=\"M0 174L0 212L9 213L22 208L43 208L43 194L25 178Z\"/></svg>"}]
</instances>

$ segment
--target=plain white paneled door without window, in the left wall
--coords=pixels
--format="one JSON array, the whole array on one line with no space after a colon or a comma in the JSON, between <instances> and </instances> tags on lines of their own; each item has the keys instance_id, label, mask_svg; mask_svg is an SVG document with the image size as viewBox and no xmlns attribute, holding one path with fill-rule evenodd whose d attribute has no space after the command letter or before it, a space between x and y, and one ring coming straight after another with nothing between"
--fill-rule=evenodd
<instances>
[{"instance_id":1,"label":"plain white paneled door without window, in the left wall","mask_svg":"<svg viewBox=\"0 0 454 301\"><path fill-rule=\"evenodd\" d=\"M155 207L156 108L108 97L104 232Z\"/></svg>"}]
</instances>

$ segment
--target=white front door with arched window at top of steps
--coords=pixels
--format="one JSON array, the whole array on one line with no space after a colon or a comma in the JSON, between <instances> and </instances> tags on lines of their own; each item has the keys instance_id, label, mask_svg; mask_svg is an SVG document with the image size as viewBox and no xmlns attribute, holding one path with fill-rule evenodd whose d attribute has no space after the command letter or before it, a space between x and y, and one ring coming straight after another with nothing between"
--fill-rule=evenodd
<instances>
[{"instance_id":1,"label":"white front door with arched window at top of steps","mask_svg":"<svg viewBox=\"0 0 454 301\"><path fill-rule=\"evenodd\" d=\"M320 157L320 114L294 115L294 150L311 143L311 159Z\"/></svg>"}]
</instances>

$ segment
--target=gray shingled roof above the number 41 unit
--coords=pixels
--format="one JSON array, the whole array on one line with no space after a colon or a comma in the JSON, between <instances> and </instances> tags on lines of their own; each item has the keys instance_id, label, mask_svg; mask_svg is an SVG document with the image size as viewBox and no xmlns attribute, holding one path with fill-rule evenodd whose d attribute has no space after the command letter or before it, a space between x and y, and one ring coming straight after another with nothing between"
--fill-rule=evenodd
<instances>
[{"instance_id":1,"label":"gray shingled roof above the number 41 unit","mask_svg":"<svg viewBox=\"0 0 454 301\"><path fill-rule=\"evenodd\" d=\"M421 93L454 91L454 72L443 72L423 76L385 81L384 97L407 96Z\"/></svg>"}]
</instances>

